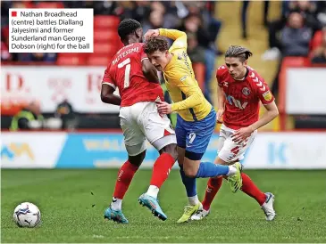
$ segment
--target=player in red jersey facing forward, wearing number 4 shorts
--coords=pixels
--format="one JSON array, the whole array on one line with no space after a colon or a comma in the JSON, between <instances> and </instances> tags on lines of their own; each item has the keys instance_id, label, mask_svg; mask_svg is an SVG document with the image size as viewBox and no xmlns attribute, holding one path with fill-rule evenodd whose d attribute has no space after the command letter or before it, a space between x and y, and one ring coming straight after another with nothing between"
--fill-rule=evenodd
<instances>
[{"instance_id":1,"label":"player in red jersey facing forward, wearing number 4 shorts","mask_svg":"<svg viewBox=\"0 0 326 244\"><path fill-rule=\"evenodd\" d=\"M257 129L271 122L279 114L268 85L254 69L247 66L251 55L247 48L231 45L225 53L225 65L217 69L217 120L222 126L215 164L229 165L244 159L247 148L255 139ZM262 118L259 118L260 102L267 110ZM260 191L248 175L241 173L241 176L241 191L259 203L267 221L273 220L276 216L273 208L274 195ZM192 220L200 220L209 214L213 198L221 185L222 177L209 179L203 209L191 216Z\"/></svg>"}]
</instances>

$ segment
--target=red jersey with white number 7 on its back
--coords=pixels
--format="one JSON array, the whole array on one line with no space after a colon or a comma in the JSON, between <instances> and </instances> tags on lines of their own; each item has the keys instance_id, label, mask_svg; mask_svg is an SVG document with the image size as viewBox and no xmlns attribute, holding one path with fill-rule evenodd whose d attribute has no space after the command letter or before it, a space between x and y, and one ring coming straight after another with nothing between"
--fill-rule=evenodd
<instances>
[{"instance_id":1,"label":"red jersey with white number 7 on its back","mask_svg":"<svg viewBox=\"0 0 326 244\"><path fill-rule=\"evenodd\" d=\"M142 71L142 61L147 58L142 43L126 45L113 56L104 72L102 84L119 88L121 107L137 102L163 101L161 85L149 82Z\"/></svg>"}]
</instances>

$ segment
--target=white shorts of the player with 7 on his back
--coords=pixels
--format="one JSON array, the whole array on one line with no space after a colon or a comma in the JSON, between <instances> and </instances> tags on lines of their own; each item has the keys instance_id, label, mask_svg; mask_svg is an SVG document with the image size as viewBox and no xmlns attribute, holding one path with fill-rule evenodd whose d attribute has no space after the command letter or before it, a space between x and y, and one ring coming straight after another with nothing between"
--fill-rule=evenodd
<instances>
[{"instance_id":1,"label":"white shorts of the player with 7 on his back","mask_svg":"<svg viewBox=\"0 0 326 244\"><path fill-rule=\"evenodd\" d=\"M130 156L146 150L146 139L156 150L177 143L171 121L157 112L155 102L138 102L120 109L120 125Z\"/></svg>"}]
</instances>

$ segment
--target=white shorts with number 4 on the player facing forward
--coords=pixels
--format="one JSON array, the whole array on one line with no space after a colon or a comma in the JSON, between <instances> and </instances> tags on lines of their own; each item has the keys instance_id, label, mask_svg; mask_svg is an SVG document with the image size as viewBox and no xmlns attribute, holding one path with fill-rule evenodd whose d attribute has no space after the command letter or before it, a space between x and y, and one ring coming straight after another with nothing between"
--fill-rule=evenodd
<instances>
[{"instance_id":1,"label":"white shorts with number 4 on the player facing forward","mask_svg":"<svg viewBox=\"0 0 326 244\"><path fill-rule=\"evenodd\" d=\"M227 163L240 161L245 158L246 150L254 142L257 130L251 134L245 142L233 142L231 135L235 134L236 130L230 129L222 125L220 130L220 138L217 145L218 157Z\"/></svg>"}]
</instances>

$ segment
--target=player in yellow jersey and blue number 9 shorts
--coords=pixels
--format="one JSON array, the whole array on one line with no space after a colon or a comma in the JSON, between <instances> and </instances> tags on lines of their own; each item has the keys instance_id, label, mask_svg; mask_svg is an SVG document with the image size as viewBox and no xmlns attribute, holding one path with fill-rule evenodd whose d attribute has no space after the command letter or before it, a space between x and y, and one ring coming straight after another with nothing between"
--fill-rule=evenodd
<instances>
[{"instance_id":1,"label":"player in yellow jersey and blue number 9 shorts","mask_svg":"<svg viewBox=\"0 0 326 244\"><path fill-rule=\"evenodd\" d=\"M174 42L170 49L165 37ZM163 71L172 104L157 102L161 114L177 112L176 135L180 175L188 195L188 206L178 223L187 222L202 204L196 193L196 178L229 176L233 191L242 186L241 165L215 165L201 162L216 125L216 113L200 90L187 54L187 35L176 29L150 29L145 35L144 51L155 68Z\"/></svg>"}]
</instances>

